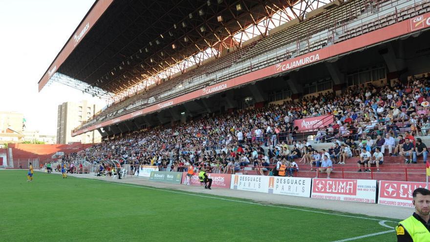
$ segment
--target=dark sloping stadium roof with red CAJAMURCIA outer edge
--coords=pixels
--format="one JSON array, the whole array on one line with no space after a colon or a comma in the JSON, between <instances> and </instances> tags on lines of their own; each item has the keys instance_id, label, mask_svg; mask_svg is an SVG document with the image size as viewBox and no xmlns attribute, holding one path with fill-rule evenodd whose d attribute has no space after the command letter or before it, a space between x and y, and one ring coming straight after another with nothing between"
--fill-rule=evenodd
<instances>
[{"instance_id":1,"label":"dark sloping stadium roof with red CAJAMURCIA outer edge","mask_svg":"<svg viewBox=\"0 0 430 242\"><path fill-rule=\"evenodd\" d=\"M235 33L279 10L289 10L290 19L304 16L315 2L318 7L318 0L97 0L39 91L57 73L86 92L115 95L194 53L238 45Z\"/></svg>"}]
</instances>

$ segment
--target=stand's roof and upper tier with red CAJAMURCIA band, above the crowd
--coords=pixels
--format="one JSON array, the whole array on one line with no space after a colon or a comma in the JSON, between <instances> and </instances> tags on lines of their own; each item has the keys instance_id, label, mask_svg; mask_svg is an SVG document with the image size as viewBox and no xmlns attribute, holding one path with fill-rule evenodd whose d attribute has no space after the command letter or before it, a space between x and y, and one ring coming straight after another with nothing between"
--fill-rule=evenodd
<instances>
[{"instance_id":1,"label":"stand's roof and upper tier with red CAJAMURCIA band, above the crowd","mask_svg":"<svg viewBox=\"0 0 430 242\"><path fill-rule=\"evenodd\" d=\"M97 0L48 66L103 137L429 71L427 0ZM48 85L49 86L49 85Z\"/></svg>"}]
</instances>

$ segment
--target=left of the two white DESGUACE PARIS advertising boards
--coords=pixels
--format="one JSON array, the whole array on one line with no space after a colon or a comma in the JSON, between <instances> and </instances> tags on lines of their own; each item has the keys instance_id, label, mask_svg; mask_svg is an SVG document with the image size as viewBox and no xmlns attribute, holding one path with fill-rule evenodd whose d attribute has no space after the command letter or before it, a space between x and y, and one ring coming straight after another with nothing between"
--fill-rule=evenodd
<instances>
[{"instance_id":1,"label":"left of the two white DESGUACE PARIS advertising boards","mask_svg":"<svg viewBox=\"0 0 430 242\"><path fill-rule=\"evenodd\" d=\"M230 189L268 193L269 176L232 175Z\"/></svg>"}]
</instances>

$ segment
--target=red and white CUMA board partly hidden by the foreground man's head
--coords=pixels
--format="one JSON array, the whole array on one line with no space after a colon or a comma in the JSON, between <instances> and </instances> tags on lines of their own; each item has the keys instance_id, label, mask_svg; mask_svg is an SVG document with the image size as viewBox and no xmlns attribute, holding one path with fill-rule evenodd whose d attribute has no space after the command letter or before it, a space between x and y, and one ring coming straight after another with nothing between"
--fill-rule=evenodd
<instances>
[{"instance_id":1,"label":"red and white CUMA board partly hidden by the foreground man's head","mask_svg":"<svg viewBox=\"0 0 430 242\"><path fill-rule=\"evenodd\" d=\"M378 203L391 206L413 207L412 193L419 187L426 187L426 183L408 181L379 181Z\"/></svg>"}]
</instances>

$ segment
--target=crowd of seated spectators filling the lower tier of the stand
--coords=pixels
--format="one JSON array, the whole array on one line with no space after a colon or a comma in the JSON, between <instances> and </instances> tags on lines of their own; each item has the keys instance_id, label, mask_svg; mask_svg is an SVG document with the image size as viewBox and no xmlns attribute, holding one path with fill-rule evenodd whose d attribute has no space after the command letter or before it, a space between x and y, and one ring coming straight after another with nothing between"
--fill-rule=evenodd
<instances>
[{"instance_id":1,"label":"crowd of seated spectators filling the lower tier of the stand","mask_svg":"<svg viewBox=\"0 0 430 242\"><path fill-rule=\"evenodd\" d=\"M429 74L404 83L360 85L340 95L327 92L109 137L69 158L94 164L116 159L130 164L132 170L156 165L185 171L183 167L194 164L214 173L236 173L253 164L260 175L279 174L284 164L285 176L293 176L299 170L297 163L304 163L311 170L313 165L320 167L329 176L331 163L345 164L359 156L359 172L362 166L368 171L372 164L379 171L386 151L404 156L406 163L416 162L420 155L427 160L426 145L415 137L430 134L429 97ZM294 126L296 119L325 114L333 114L334 122L312 133L303 134ZM333 146L316 151L307 140L309 134L315 142Z\"/></svg>"}]
</instances>

